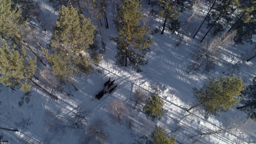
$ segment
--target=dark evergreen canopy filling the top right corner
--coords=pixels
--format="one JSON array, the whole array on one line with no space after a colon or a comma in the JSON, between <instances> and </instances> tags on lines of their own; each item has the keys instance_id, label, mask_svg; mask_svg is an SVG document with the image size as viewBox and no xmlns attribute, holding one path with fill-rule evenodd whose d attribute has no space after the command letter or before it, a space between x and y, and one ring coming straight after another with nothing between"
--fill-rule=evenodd
<instances>
[{"instance_id":1,"label":"dark evergreen canopy filling the top right corner","mask_svg":"<svg viewBox=\"0 0 256 144\"><path fill-rule=\"evenodd\" d=\"M208 2L211 3L212 0ZM222 13L213 25L212 35L215 36L228 28L228 32L237 31L234 38L236 44L252 42L252 35L256 34L255 4L255 0L217 0L215 10L211 11L207 18L208 27L211 27L213 21Z\"/></svg>"}]
</instances>

